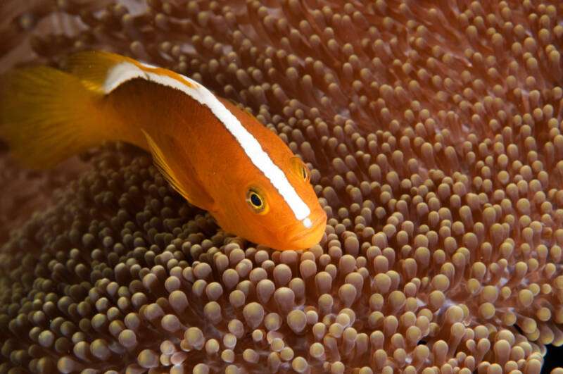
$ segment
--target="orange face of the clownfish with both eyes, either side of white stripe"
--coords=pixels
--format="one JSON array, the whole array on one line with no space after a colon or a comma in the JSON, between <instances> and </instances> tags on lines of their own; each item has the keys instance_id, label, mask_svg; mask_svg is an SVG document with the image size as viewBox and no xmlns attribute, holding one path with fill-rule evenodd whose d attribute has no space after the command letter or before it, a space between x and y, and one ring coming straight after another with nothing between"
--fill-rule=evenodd
<instances>
[{"instance_id":1,"label":"orange face of the clownfish with both eyes, either side of white stripe","mask_svg":"<svg viewBox=\"0 0 563 374\"><path fill-rule=\"evenodd\" d=\"M305 216L296 216L284 194L272 182L256 173L229 184L228 197L219 211L212 212L217 223L256 244L272 249L299 250L318 244L327 226L327 213L310 185L310 172L296 156L284 163L284 174L305 206Z\"/></svg>"}]
</instances>

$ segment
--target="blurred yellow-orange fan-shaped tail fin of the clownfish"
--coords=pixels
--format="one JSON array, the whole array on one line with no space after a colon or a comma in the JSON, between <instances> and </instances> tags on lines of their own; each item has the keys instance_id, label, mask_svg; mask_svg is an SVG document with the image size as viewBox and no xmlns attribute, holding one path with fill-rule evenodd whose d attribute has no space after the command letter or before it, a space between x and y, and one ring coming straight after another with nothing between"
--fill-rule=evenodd
<instances>
[{"instance_id":1,"label":"blurred yellow-orange fan-shaped tail fin of the clownfish","mask_svg":"<svg viewBox=\"0 0 563 374\"><path fill-rule=\"evenodd\" d=\"M97 99L74 75L47 66L14 70L0 91L0 137L26 166L49 168L106 137Z\"/></svg>"}]
</instances>

